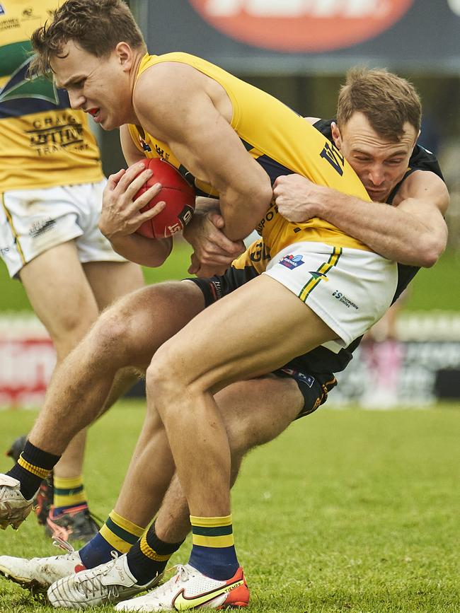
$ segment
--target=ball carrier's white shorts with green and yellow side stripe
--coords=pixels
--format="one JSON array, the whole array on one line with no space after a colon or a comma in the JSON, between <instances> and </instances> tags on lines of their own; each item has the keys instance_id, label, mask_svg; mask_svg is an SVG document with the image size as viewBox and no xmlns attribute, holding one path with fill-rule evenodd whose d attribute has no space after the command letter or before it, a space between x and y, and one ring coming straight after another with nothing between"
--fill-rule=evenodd
<instances>
[{"instance_id":1,"label":"ball carrier's white shorts with green and yellow side stripe","mask_svg":"<svg viewBox=\"0 0 460 613\"><path fill-rule=\"evenodd\" d=\"M267 269L321 317L338 339L324 344L338 353L378 321L391 305L398 268L374 252L293 243L270 259Z\"/></svg>"}]
</instances>

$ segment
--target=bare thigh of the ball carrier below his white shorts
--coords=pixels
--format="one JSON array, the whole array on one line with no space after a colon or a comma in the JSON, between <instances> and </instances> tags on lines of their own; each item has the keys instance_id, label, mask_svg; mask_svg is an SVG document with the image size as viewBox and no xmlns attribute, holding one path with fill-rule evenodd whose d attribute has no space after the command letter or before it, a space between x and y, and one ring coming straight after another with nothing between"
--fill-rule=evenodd
<instances>
[{"instance_id":1,"label":"bare thigh of the ball carrier below his white shorts","mask_svg":"<svg viewBox=\"0 0 460 613\"><path fill-rule=\"evenodd\" d=\"M262 275L197 315L161 348L149 377L160 383L180 368L185 385L217 392L336 336L291 291Z\"/></svg>"}]
</instances>

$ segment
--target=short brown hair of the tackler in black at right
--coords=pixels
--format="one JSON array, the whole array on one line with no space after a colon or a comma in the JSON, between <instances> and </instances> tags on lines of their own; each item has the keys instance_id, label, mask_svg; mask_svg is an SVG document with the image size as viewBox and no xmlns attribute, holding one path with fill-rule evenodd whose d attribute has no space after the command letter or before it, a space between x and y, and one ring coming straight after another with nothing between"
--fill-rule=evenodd
<instances>
[{"instance_id":1,"label":"short brown hair of the tackler in black at right","mask_svg":"<svg viewBox=\"0 0 460 613\"><path fill-rule=\"evenodd\" d=\"M406 122L420 130L422 105L415 87L386 69L357 66L347 72L338 96L338 127L355 112L362 112L377 134L392 141L401 139Z\"/></svg>"}]
</instances>

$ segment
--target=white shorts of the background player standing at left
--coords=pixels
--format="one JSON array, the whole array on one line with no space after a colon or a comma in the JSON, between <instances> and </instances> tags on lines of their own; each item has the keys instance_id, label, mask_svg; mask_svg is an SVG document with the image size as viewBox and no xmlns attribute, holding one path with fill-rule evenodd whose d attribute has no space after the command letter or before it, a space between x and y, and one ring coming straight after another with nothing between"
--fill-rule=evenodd
<instances>
[{"instance_id":1,"label":"white shorts of the background player standing at left","mask_svg":"<svg viewBox=\"0 0 460 613\"><path fill-rule=\"evenodd\" d=\"M80 262L125 262L100 233L106 181L0 194L0 256L11 277L31 259L75 240Z\"/></svg>"}]
</instances>

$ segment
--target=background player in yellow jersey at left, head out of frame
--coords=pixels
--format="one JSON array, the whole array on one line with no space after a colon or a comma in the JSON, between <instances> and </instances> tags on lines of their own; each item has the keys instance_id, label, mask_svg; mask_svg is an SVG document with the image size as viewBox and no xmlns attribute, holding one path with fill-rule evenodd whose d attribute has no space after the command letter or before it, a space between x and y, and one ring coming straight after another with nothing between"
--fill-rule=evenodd
<instances>
[{"instance_id":1,"label":"background player in yellow jersey at left, head out of frame","mask_svg":"<svg viewBox=\"0 0 460 613\"><path fill-rule=\"evenodd\" d=\"M105 179L84 113L47 78L26 76L30 35L56 7L57 0L1 1L0 255L50 333L59 364L100 310L142 286L142 273L98 230ZM97 532L81 475L85 438L76 436L54 468L55 508L40 516L64 539Z\"/></svg>"}]
</instances>

